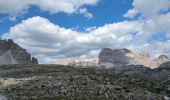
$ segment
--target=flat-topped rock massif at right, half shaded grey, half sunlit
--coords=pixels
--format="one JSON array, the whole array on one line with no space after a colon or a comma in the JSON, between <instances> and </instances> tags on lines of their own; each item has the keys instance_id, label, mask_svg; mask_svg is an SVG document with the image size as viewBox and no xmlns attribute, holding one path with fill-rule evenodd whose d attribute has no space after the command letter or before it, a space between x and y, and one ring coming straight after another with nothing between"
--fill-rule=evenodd
<instances>
[{"instance_id":1,"label":"flat-topped rock massif at right, half shaded grey, half sunlit","mask_svg":"<svg viewBox=\"0 0 170 100\"><path fill-rule=\"evenodd\" d=\"M151 59L146 52L133 52L126 48L114 50L104 48L99 54L98 64L106 68L126 65L143 65L149 68L157 68L160 64L167 61L168 57L166 55L160 55L156 59Z\"/></svg>"}]
</instances>

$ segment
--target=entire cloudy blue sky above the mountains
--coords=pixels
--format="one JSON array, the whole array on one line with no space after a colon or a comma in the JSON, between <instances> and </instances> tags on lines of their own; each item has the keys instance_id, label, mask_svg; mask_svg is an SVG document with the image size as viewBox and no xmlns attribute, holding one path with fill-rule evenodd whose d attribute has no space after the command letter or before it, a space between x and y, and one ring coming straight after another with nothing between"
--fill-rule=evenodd
<instances>
[{"instance_id":1,"label":"entire cloudy blue sky above the mountains","mask_svg":"<svg viewBox=\"0 0 170 100\"><path fill-rule=\"evenodd\" d=\"M40 63L106 47L170 57L170 0L0 0L0 36Z\"/></svg>"}]
</instances>

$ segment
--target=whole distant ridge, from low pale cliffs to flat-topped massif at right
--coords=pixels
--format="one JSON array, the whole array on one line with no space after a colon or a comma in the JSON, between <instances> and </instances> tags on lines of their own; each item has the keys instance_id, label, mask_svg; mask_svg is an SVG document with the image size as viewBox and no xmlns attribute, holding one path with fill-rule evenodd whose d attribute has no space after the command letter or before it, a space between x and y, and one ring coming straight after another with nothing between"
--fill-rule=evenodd
<instances>
[{"instance_id":1,"label":"whole distant ridge, from low pale cliffs to flat-topped massif at right","mask_svg":"<svg viewBox=\"0 0 170 100\"><path fill-rule=\"evenodd\" d=\"M134 52L129 49L114 49L103 48L99 53L98 58L64 58L56 62L60 65L71 66L100 66L105 68L120 67L127 65L143 65L148 68L158 68L162 63L168 62L169 58L166 55L160 55L156 59L151 59L146 52ZM122 67L120 67L122 68Z\"/></svg>"}]
</instances>

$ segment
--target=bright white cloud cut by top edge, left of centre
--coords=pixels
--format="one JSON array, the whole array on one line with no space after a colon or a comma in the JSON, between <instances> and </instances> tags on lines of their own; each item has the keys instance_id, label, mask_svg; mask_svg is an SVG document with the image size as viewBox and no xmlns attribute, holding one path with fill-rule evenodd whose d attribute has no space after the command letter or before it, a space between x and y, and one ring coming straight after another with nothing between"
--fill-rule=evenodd
<instances>
[{"instance_id":1,"label":"bright white cloud cut by top edge, left of centre","mask_svg":"<svg viewBox=\"0 0 170 100\"><path fill-rule=\"evenodd\" d=\"M74 13L84 5L96 5L99 0L34 0L34 4L50 13Z\"/></svg>"}]
</instances>

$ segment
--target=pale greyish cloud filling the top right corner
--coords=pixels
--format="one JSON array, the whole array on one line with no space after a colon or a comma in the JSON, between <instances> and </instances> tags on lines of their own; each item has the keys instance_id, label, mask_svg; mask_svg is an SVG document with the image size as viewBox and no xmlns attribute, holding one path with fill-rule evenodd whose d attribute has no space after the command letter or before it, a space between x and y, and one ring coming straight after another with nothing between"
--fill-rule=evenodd
<instances>
[{"instance_id":1,"label":"pale greyish cloud filling the top right corner","mask_svg":"<svg viewBox=\"0 0 170 100\"><path fill-rule=\"evenodd\" d=\"M170 0L133 0L133 7L125 16L133 17L141 14L145 18L153 18L170 8Z\"/></svg>"}]
</instances>

